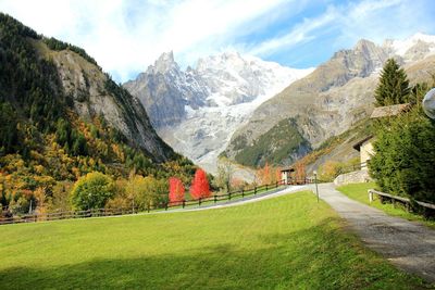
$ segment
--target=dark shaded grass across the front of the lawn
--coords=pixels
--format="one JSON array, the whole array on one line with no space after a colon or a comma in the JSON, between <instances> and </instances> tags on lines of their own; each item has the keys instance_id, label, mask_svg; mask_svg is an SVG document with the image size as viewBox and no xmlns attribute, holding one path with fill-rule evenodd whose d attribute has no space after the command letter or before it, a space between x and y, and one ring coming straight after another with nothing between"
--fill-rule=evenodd
<instances>
[{"instance_id":1,"label":"dark shaded grass across the front of the lawn","mask_svg":"<svg viewBox=\"0 0 435 290\"><path fill-rule=\"evenodd\" d=\"M0 289L418 289L425 285L365 250L339 222L174 255L104 259L0 272ZM187 241L186 241L187 242ZM72 253L74 254L74 253Z\"/></svg>"}]
</instances>

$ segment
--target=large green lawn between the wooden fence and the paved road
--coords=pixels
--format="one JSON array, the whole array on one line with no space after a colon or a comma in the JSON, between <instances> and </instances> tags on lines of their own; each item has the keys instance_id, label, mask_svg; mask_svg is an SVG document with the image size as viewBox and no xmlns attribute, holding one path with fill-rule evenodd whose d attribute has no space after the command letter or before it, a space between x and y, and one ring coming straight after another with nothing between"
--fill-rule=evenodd
<instances>
[{"instance_id":1,"label":"large green lawn between the wooden fence and the paved road","mask_svg":"<svg viewBox=\"0 0 435 290\"><path fill-rule=\"evenodd\" d=\"M417 289L311 192L0 227L0 289Z\"/></svg>"}]
</instances>

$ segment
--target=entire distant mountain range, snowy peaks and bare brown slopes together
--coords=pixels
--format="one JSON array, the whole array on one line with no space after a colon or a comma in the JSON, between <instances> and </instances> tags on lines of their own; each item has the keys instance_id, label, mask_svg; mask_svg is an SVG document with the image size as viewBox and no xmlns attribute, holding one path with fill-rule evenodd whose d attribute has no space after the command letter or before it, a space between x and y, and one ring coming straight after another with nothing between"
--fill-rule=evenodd
<instances>
[{"instance_id":1,"label":"entire distant mountain range, snowy peaks and bare brown slopes together","mask_svg":"<svg viewBox=\"0 0 435 290\"><path fill-rule=\"evenodd\" d=\"M179 68L172 53L124 85L177 152L215 172L219 156L256 167L288 165L368 117L388 58L411 81L435 73L435 37L381 46L360 40L315 70L295 70L226 52Z\"/></svg>"}]
</instances>

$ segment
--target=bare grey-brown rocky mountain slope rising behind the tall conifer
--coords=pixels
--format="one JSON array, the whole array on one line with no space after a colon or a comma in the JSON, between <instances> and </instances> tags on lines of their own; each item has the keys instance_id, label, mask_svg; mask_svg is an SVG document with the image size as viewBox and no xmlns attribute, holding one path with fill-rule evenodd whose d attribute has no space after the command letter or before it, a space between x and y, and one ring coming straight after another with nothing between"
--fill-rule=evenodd
<instances>
[{"instance_id":1,"label":"bare grey-brown rocky mountain slope rising behind the tall conifer","mask_svg":"<svg viewBox=\"0 0 435 290\"><path fill-rule=\"evenodd\" d=\"M225 154L240 163L251 163L240 159L244 149L238 148L238 140L256 146L286 118L294 118L299 133L316 148L369 115L378 73L388 58L405 65L411 80L427 79L431 74L422 76L421 70L433 71L428 60L434 52L435 37L421 34L405 41L386 40L383 46L360 40L353 49L336 52L310 75L262 103L233 135ZM278 142L275 148L276 152L281 150Z\"/></svg>"}]
</instances>

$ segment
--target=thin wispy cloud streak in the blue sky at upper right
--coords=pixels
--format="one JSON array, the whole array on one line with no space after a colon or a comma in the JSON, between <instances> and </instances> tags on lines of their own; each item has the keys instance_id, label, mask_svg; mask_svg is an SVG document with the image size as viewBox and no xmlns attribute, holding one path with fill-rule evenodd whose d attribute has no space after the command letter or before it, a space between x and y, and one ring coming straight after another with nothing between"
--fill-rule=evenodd
<instances>
[{"instance_id":1,"label":"thin wispy cloud streak in the blue sky at upper right","mask_svg":"<svg viewBox=\"0 0 435 290\"><path fill-rule=\"evenodd\" d=\"M386 38L400 39L428 27L434 29L432 16L425 17L431 14L431 8L435 12L431 0L364 0L330 4L320 15L291 24L286 34L251 45L246 50L250 54L269 56L306 42L316 42L328 31L333 31L327 41L333 50L353 46L361 38L376 42Z\"/></svg>"}]
</instances>

